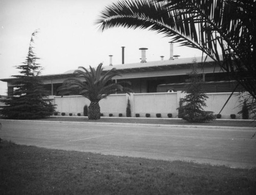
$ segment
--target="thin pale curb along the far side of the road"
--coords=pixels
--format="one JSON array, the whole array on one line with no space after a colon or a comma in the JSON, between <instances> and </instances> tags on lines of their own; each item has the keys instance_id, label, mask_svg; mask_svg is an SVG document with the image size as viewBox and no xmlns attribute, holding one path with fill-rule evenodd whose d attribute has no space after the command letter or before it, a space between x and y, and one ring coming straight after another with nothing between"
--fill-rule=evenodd
<instances>
[{"instance_id":1,"label":"thin pale curb along the far side of the road","mask_svg":"<svg viewBox=\"0 0 256 195\"><path fill-rule=\"evenodd\" d=\"M46 120L9 120L0 119L0 121L19 121L19 122L47 122L47 123L76 123L76 124L97 124L97 125L120 125L120 126L152 126L152 127L180 127L180 128L206 128L206 129L237 129L237 130L255 130L256 127L246 126L210 126L210 125L179 125L179 124L147 124L147 123L117 123L117 122L79 122L79 121L46 121Z\"/></svg>"}]
</instances>

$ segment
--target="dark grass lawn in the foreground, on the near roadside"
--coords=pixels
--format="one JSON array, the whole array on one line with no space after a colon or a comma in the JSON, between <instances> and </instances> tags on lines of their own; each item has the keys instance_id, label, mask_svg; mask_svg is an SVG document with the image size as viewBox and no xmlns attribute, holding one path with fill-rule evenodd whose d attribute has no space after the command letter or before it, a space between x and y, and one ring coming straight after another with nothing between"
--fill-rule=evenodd
<instances>
[{"instance_id":1,"label":"dark grass lawn in the foreground, on the near roadside","mask_svg":"<svg viewBox=\"0 0 256 195\"><path fill-rule=\"evenodd\" d=\"M255 194L256 168L0 143L1 194Z\"/></svg>"}]
</instances>

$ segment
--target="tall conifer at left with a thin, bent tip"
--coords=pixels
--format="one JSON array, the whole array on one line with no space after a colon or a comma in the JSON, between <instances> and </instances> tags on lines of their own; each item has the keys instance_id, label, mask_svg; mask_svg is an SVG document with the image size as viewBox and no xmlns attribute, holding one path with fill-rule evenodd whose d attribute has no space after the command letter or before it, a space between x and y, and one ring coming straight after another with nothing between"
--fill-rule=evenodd
<instances>
[{"instance_id":1,"label":"tall conifer at left with a thin, bent tip","mask_svg":"<svg viewBox=\"0 0 256 195\"><path fill-rule=\"evenodd\" d=\"M26 60L16 68L20 75L13 75L14 91L3 102L0 114L10 119L38 119L46 118L53 114L54 105L47 98L48 91L39 78L41 67L36 61L39 59L34 53L34 37L38 31L31 36L28 55Z\"/></svg>"}]
</instances>

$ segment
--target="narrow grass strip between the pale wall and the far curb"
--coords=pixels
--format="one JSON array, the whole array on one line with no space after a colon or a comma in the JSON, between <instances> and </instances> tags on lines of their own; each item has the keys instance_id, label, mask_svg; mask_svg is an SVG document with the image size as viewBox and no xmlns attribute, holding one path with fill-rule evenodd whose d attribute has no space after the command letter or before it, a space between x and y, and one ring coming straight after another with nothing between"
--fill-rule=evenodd
<instances>
[{"instance_id":1,"label":"narrow grass strip between the pale wall and the far curb","mask_svg":"<svg viewBox=\"0 0 256 195\"><path fill-rule=\"evenodd\" d=\"M111 118L111 117L101 117L100 120L88 120L87 117L50 117L47 119L49 121L78 121L78 122L114 122L114 123L145 123L145 124L171 124L171 125L209 125L209 126L245 126L254 127L256 126L256 121L251 120L214 120L208 123L189 123L181 119L154 119L154 118Z\"/></svg>"}]
</instances>

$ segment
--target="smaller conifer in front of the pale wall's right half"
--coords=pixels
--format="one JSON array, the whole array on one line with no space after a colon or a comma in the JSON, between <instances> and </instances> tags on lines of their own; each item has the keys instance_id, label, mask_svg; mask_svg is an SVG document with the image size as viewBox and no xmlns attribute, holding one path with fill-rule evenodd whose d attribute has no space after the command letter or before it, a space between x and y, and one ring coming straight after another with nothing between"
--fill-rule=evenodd
<instances>
[{"instance_id":1,"label":"smaller conifer in front of the pale wall's right half","mask_svg":"<svg viewBox=\"0 0 256 195\"><path fill-rule=\"evenodd\" d=\"M202 91L202 75L197 72L196 60L193 60L193 70L189 73L189 79L186 86L187 95L181 99L183 106L180 106L181 118L189 122L207 122L215 119L212 112L206 112L203 107L206 106L205 100L208 96Z\"/></svg>"}]
</instances>

